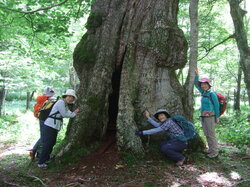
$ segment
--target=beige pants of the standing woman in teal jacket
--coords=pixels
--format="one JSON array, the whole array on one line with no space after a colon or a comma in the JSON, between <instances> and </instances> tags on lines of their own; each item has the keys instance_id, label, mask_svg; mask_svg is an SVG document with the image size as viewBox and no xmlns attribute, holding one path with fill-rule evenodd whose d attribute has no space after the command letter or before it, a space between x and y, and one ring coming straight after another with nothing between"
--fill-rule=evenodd
<instances>
[{"instance_id":1,"label":"beige pants of the standing woman in teal jacket","mask_svg":"<svg viewBox=\"0 0 250 187\"><path fill-rule=\"evenodd\" d=\"M219 152L218 143L215 136L215 118L211 117L201 117L201 124L204 131L204 134L207 139L208 152L211 155L217 155Z\"/></svg>"}]
</instances>

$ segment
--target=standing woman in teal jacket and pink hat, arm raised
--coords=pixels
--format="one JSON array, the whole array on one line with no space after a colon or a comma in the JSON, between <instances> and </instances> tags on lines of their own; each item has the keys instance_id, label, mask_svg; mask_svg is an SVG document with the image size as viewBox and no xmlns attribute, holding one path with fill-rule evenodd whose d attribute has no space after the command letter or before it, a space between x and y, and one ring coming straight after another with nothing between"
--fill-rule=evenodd
<instances>
[{"instance_id":1,"label":"standing woman in teal jacket and pink hat, arm raised","mask_svg":"<svg viewBox=\"0 0 250 187\"><path fill-rule=\"evenodd\" d=\"M219 154L218 142L215 135L216 123L219 122L219 101L215 92L211 91L211 82L204 77L199 80L199 71L195 71L195 87L201 93L201 124L207 139L207 157L216 158Z\"/></svg>"}]
</instances>

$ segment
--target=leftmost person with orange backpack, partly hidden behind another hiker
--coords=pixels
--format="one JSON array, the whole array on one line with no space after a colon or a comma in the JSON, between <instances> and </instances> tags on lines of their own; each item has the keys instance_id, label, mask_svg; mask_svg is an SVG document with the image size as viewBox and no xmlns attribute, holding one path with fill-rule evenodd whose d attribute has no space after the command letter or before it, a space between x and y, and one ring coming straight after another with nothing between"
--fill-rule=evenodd
<instances>
[{"instance_id":1,"label":"leftmost person with orange backpack, partly hidden behind another hiker","mask_svg":"<svg viewBox=\"0 0 250 187\"><path fill-rule=\"evenodd\" d=\"M54 89L51 86L47 86L46 88L44 88L44 94L36 98L36 104L34 105L34 116L37 119L39 119L38 114L43 104L47 100L54 99L53 98L54 95L55 95ZM29 150L29 155L32 160L35 158L36 155L37 156L39 155L39 152L37 152L37 150L41 147L41 142L42 142L41 133L43 131L43 122L40 119L39 119L39 125L40 125L40 138L37 140L33 148Z\"/></svg>"}]
</instances>

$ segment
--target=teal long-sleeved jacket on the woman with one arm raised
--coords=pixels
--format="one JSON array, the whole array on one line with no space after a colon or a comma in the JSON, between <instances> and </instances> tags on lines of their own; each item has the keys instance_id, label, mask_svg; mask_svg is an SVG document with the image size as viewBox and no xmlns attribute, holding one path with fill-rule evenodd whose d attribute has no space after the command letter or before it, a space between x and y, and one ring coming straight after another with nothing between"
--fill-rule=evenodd
<instances>
[{"instance_id":1,"label":"teal long-sleeved jacket on the woman with one arm raised","mask_svg":"<svg viewBox=\"0 0 250 187\"><path fill-rule=\"evenodd\" d=\"M201 93L201 113L204 111L210 111L215 114L215 117L218 118L220 111L219 111L219 100L215 92L212 92L211 90L204 91L201 87L198 85L199 76L195 76L195 87L199 90ZM211 99L212 101L211 101Z\"/></svg>"}]
</instances>

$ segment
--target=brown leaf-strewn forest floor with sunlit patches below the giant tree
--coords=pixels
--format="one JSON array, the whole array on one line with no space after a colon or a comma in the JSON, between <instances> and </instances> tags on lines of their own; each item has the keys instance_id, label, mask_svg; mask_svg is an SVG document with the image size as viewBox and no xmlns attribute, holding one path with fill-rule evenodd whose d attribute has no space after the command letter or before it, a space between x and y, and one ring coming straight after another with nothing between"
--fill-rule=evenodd
<instances>
[{"instance_id":1,"label":"brown leaf-strewn forest floor with sunlit patches below the giant tree","mask_svg":"<svg viewBox=\"0 0 250 187\"><path fill-rule=\"evenodd\" d=\"M136 159L118 152L113 143L77 161L55 159L49 169L40 169L29 159L28 148L20 143L0 145L0 186L250 186L250 156L227 144L220 144L217 159L194 153L182 167L166 159L157 146L147 147L146 157Z\"/></svg>"}]
</instances>

